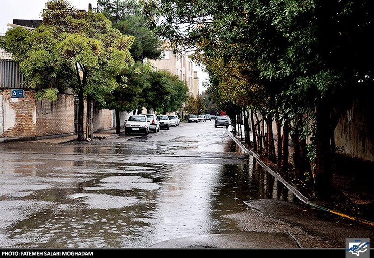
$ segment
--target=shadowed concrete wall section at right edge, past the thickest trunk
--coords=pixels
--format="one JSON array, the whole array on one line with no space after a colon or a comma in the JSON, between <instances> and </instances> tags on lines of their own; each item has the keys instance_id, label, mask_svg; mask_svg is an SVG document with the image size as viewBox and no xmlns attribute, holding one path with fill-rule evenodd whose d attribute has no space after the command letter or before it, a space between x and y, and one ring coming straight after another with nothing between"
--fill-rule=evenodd
<instances>
[{"instance_id":1,"label":"shadowed concrete wall section at right edge, past the thickest trunk","mask_svg":"<svg viewBox=\"0 0 374 258\"><path fill-rule=\"evenodd\" d=\"M374 105L370 94L354 100L335 128L338 153L374 162Z\"/></svg>"}]
</instances>

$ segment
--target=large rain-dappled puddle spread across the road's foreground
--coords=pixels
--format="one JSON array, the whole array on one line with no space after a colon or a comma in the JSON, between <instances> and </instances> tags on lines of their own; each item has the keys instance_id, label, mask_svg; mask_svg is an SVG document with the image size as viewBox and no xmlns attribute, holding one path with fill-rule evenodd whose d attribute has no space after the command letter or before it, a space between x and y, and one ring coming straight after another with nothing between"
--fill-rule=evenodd
<instances>
[{"instance_id":1,"label":"large rain-dappled puddle spread across the road's foreground","mask_svg":"<svg viewBox=\"0 0 374 258\"><path fill-rule=\"evenodd\" d=\"M293 199L252 157L231 165L54 162L49 170L39 165L44 172L34 177L3 175L8 183L35 178L43 188L30 182L13 192L12 198L35 209L15 206L22 217L5 215L9 223L0 231L0 247L147 248L172 238L235 231L227 215L247 209L244 201ZM74 198L77 193L87 197ZM1 207L7 198L3 192Z\"/></svg>"}]
</instances>

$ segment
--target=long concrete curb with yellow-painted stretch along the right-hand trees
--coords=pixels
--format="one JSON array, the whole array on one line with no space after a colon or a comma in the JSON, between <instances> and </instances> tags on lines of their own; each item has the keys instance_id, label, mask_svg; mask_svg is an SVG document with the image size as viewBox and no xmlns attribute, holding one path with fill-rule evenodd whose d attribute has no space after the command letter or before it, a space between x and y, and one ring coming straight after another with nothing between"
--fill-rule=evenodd
<instances>
[{"instance_id":1,"label":"long concrete curb with yellow-painted stretch along the right-hand trees","mask_svg":"<svg viewBox=\"0 0 374 258\"><path fill-rule=\"evenodd\" d=\"M323 210L323 211L326 211L326 212L330 212L330 213L333 213L335 215L338 215L340 217L343 217L343 218L346 218L346 219L350 219L350 220L354 220L354 221L358 221L360 223L364 223L364 224L367 224L367 225L370 225L370 226L373 226L374 227L374 222L371 222L371 221L368 221L368 220L365 220L365 219L360 219L360 218L355 218L355 217L352 217L352 216L349 216L349 215L346 215L342 212L339 212L339 211L335 211L335 210L332 210L332 209L329 209L329 208L326 208L326 207L323 207L323 206L320 206L320 205L317 205L317 204L314 204L313 202L310 202L309 199L302 195L301 192L299 192L293 185L291 185L290 183L288 183L284 178L282 178L282 176L280 176L278 173L276 173L275 171L273 171L269 166L267 166L261 159L260 159L260 156L253 152L253 151L250 151L248 150L243 143L241 143L233 134L231 131L227 130L227 132L229 133L230 137L232 138L232 140L234 140L238 145L239 147L245 152L247 153L248 155L251 155L253 156L256 161L267 171L269 172L271 175L273 175L278 181L280 181L285 187L287 187L287 189L289 189L300 201L302 201L303 203L307 204L307 205L310 205L314 208L317 208L317 209L320 209L320 210Z\"/></svg>"}]
</instances>

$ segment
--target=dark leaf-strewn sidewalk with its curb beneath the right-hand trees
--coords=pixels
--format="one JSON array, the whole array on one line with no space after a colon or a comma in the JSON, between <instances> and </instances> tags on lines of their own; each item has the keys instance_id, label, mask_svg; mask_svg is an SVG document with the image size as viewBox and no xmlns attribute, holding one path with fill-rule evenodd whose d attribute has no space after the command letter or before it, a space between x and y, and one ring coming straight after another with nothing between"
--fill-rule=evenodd
<instances>
[{"instance_id":1,"label":"dark leaf-strewn sidewalk with its curb beneath the right-hand trees","mask_svg":"<svg viewBox=\"0 0 374 258\"><path fill-rule=\"evenodd\" d=\"M326 200L316 200L311 189L296 186L292 183L292 178L279 174L273 164L268 164L261 160L261 157L253 153L240 137L231 132L231 138L250 155L255 156L268 172L272 173L281 181L289 190L294 192L302 202L313 206L317 209L333 213L340 217L358 221L363 224L371 225L374 229L374 190L369 182L372 182L372 164L360 166L360 164L349 159L339 160L335 158L335 169L333 176L333 190L331 197ZM290 153L292 153L290 146ZM292 163L291 155L290 162ZM349 164L347 164L349 163ZM365 180L366 178L366 180Z\"/></svg>"}]
</instances>

